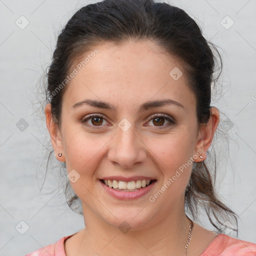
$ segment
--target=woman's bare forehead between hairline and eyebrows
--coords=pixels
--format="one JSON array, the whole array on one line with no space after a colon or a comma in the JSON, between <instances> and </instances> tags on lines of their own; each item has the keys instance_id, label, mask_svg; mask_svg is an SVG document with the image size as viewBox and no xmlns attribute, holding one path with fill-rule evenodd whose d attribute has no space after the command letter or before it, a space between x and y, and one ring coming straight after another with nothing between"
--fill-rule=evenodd
<instances>
[{"instance_id":1,"label":"woman's bare forehead between hairline and eyebrows","mask_svg":"<svg viewBox=\"0 0 256 256\"><path fill-rule=\"evenodd\" d=\"M103 43L95 49L96 54L93 49L84 54L86 64L67 85L63 101L69 106L85 98L136 104L167 96L195 104L181 64L152 41Z\"/></svg>"}]
</instances>

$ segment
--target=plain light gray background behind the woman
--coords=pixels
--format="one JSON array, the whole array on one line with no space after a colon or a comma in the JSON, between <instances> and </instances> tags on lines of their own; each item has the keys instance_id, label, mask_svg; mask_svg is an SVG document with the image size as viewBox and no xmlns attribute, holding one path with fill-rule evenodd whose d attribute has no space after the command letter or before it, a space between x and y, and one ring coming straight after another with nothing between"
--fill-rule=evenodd
<instances>
[{"instance_id":1,"label":"plain light gray background behind the woman","mask_svg":"<svg viewBox=\"0 0 256 256\"><path fill-rule=\"evenodd\" d=\"M0 255L24 255L84 227L83 217L69 210L61 190L53 190L56 169L39 191L49 136L35 110L36 86L50 63L57 34L74 11L89 2L0 0ZM256 1L171 2L195 18L205 38L221 47L224 96L213 105L233 126L224 125L231 137L230 159L221 161L216 188L240 217L238 238L256 242ZM21 15L29 22L25 28ZM228 29L231 20L226 15L234 21ZM213 230L204 216L201 222Z\"/></svg>"}]
</instances>

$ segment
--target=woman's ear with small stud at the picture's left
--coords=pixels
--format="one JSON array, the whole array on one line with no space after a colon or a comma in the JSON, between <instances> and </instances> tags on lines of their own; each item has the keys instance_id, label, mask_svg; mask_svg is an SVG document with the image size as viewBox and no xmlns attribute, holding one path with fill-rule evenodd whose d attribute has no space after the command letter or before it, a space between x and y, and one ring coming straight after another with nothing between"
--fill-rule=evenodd
<instances>
[{"instance_id":1,"label":"woman's ear with small stud at the picture's left","mask_svg":"<svg viewBox=\"0 0 256 256\"><path fill-rule=\"evenodd\" d=\"M48 103L45 106L44 112L45 112L45 117L46 117L46 126L47 126L47 129L50 134L50 140L51 140L51 144L52 144L52 147L54 150L54 155L57 160L64 162L65 157L64 157L64 153L63 153L61 134L60 134L58 125L52 119L50 103ZM62 153L62 155L59 156L58 155L59 153Z\"/></svg>"}]
</instances>

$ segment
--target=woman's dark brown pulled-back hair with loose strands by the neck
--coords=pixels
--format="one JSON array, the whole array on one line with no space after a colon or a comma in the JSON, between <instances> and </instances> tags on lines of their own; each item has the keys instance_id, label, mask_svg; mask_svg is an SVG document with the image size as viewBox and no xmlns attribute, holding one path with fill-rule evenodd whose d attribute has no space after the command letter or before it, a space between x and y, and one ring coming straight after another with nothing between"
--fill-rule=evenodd
<instances>
[{"instance_id":1,"label":"woman's dark brown pulled-back hair with loose strands by the neck","mask_svg":"<svg viewBox=\"0 0 256 256\"><path fill-rule=\"evenodd\" d=\"M61 123L62 97L68 85L61 86L57 93L54 91L84 52L100 43L120 44L128 39L152 40L166 53L181 60L188 86L196 97L198 124L206 124L211 115L211 85L215 85L222 70L221 57L216 46L203 37L201 28L184 10L153 0L104 0L80 8L69 19L58 35L47 72L46 100L51 103L54 121L58 125ZM216 73L218 75L214 77ZM202 207L217 230L229 227L238 234L236 214L218 199L214 189L214 150L213 154L207 154L211 159L209 166L204 161L193 164L185 189L186 211L193 219L198 219L198 207ZM73 209L79 198L70 190L68 180L65 195L69 207ZM231 219L236 228L225 224L226 220L232 222Z\"/></svg>"}]
</instances>

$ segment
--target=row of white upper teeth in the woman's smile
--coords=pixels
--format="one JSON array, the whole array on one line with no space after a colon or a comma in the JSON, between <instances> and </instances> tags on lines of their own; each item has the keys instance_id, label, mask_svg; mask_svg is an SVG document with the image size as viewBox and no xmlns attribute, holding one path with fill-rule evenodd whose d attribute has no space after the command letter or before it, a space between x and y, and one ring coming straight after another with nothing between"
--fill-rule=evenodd
<instances>
[{"instance_id":1,"label":"row of white upper teeth in the woman's smile","mask_svg":"<svg viewBox=\"0 0 256 256\"><path fill-rule=\"evenodd\" d=\"M121 181L121 180L110 180L110 179L104 179L104 183L112 187L116 190L122 190L122 191L136 191L137 189L141 187L145 187L150 183L150 179L142 179L142 180L132 180L132 181Z\"/></svg>"}]
</instances>

